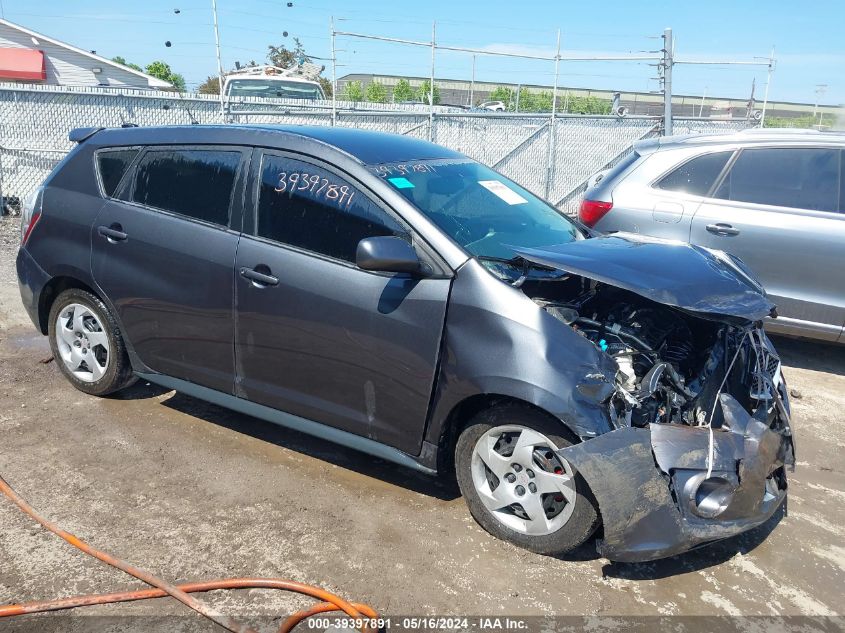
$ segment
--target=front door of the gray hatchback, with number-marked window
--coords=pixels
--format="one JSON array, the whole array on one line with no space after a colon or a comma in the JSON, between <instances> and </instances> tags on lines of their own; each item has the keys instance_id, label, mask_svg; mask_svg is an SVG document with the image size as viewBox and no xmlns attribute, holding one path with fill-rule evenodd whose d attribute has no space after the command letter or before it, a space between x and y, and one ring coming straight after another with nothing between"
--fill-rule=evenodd
<instances>
[{"instance_id":1,"label":"front door of the gray hatchback, with number-marked window","mask_svg":"<svg viewBox=\"0 0 845 633\"><path fill-rule=\"evenodd\" d=\"M414 238L343 172L268 151L252 173L256 216L236 263L238 395L418 453L451 279L355 266L365 237Z\"/></svg>"}]
</instances>

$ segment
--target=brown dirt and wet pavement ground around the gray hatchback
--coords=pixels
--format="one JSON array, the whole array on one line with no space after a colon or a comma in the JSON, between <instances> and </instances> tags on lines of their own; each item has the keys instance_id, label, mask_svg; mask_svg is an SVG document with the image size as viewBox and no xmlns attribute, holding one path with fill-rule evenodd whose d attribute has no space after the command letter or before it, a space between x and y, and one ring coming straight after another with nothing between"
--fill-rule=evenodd
<instances>
[{"instance_id":1,"label":"brown dirt and wet pavement ground around the gray hatchback","mask_svg":"<svg viewBox=\"0 0 845 633\"><path fill-rule=\"evenodd\" d=\"M548 558L488 536L449 486L354 451L146 384L108 399L75 391L55 363L39 362L49 349L20 307L16 230L0 220L0 473L126 560L174 581L317 583L394 615L842 613L845 347L776 340L801 394L788 516L656 563L610 564L592 542ZM138 584L0 499L0 604ZM306 604L268 591L205 599L233 615ZM92 613L185 612L169 600L98 607L64 630ZM178 623L168 630L201 620Z\"/></svg>"}]
</instances>

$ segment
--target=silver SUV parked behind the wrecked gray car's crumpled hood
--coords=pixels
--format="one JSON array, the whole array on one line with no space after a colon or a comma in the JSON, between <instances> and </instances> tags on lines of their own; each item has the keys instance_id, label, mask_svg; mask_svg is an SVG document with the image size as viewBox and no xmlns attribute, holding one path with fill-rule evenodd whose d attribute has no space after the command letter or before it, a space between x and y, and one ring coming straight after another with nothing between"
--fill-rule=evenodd
<instances>
[{"instance_id":1,"label":"silver SUV parked behind the wrecked gray car's crumpled hood","mask_svg":"<svg viewBox=\"0 0 845 633\"><path fill-rule=\"evenodd\" d=\"M843 133L747 130L643 141L592 178L579 217L602 232L727 251L777 304L769 330L845 342Z\"/></svg>"}]
</instances>

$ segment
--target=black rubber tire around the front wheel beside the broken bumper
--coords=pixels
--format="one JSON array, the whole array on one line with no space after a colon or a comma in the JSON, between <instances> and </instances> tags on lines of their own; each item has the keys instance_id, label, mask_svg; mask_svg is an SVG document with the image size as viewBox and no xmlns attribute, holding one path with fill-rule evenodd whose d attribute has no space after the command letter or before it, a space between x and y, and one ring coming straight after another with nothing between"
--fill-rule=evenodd
<instances>
[{"instance_id":1,"label":"black rubber tire around the front wheel beside the broken bumper","mask_svg":"<svg viewBox=\"0 0 845 633\"><path fill-rule=\"evenodd\" d=\"M545 535L528 535L504 525L481 501L473 483L471 462L478 440L490 429L516 425L537 431L551 440L558 448L572 446L565 437L561 422L550 416L519 404L507 404L488 409L474 416L458 437L455 447L455 474L461 494L473 518L487 532L538 554L559 555L583 544L599 525L598 505L584 478L575 472L576 500L572 515L557 531Z\"/></svg>"}]
</instances>

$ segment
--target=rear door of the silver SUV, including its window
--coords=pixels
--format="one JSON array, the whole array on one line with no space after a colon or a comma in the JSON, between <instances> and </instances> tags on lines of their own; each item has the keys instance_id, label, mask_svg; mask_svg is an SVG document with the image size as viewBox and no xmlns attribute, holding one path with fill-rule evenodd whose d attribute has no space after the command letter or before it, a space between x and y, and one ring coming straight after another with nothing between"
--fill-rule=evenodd
<instances>
[{"instance_id":1,"label":"rear door of the silver SUV, including its window","mask_svg":"<svg viewBox=\"0 0 845 633\"><path fill-rule=\"evenodd\" d=\"M841 174L838 148L743 149L690 231L690 242L736 255L760 277L781 324L827 340L845 323Z\"/></svg>"}]
</instances>

